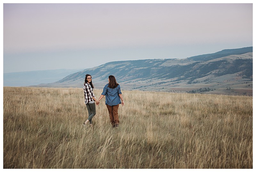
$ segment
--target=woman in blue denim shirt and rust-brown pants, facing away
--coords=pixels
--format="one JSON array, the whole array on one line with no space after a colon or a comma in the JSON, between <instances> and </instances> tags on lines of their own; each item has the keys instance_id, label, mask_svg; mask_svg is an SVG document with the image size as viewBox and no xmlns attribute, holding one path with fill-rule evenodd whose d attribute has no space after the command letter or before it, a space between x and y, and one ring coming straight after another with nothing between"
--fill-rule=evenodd
<instances>
[{"instance_id":1,"label":"woman in blue denim shirt and rust-brown pants, facing away","mask_svg":"<svg viewBox=\"0 0 256 172\"><path fill-rule=\"evenodd\" d=\"M120 85L116 82L116 78L113 75L108 76L108 84L105 85L103 92L98 101L106 96L106 106L108 108L109 118L112 127L118 127L118 107L119 104L124 105L124 99L120 89ZM120 101L121 98L121 101Z\"/></svg>"}]
</instances>

